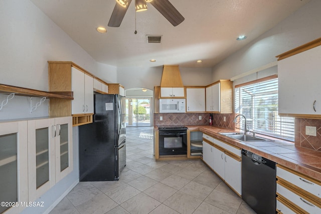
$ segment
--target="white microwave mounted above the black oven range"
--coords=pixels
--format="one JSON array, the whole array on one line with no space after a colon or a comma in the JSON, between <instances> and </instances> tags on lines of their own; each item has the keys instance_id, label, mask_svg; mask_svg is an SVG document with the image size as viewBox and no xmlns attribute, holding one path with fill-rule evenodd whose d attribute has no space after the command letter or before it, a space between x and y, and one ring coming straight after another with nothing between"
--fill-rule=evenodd
<instances>
[{"instance_id":1,"label":"white microwave mounted above the black oven range","mask_svg":"<svg viewBox=\"0 0 321 214\"><path fill-rule=\"evenodd\" d=\"M159 113L185 113L185 99L159 99Z\"/></svg>"}]
</instances>

